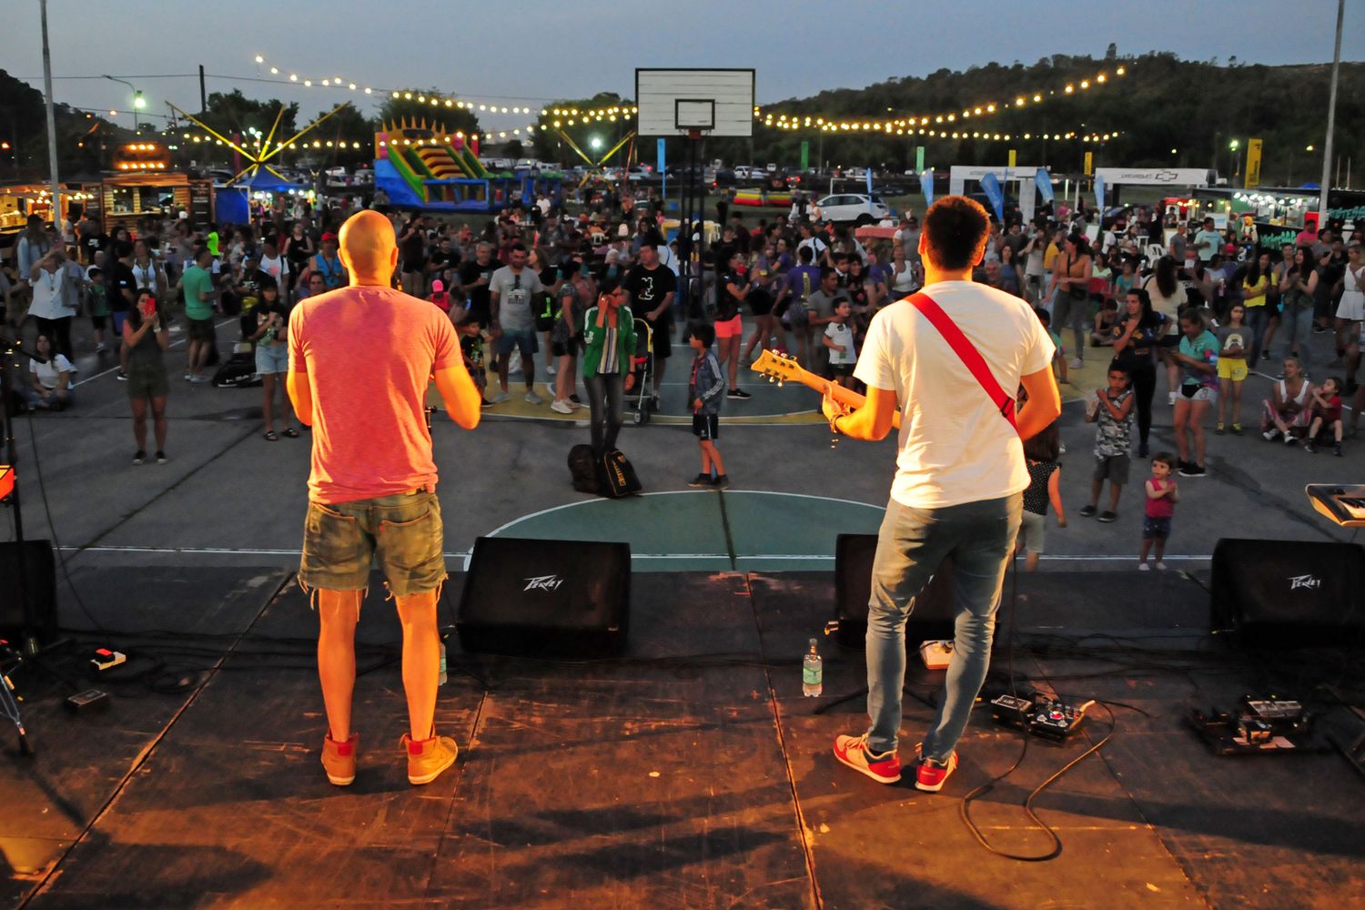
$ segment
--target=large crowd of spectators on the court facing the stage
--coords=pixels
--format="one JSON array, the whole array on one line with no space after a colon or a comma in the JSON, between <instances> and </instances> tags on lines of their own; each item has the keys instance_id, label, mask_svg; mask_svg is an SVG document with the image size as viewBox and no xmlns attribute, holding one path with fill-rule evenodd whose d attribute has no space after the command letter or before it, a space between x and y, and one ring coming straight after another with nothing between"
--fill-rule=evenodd
<instances>
[{"instance_id":1,"label":"large crowd of spectators on the court facing the stage","mask_svg":"<svg viewBox=\"0 0 1365 910\"><path fill-rule=\"evenodd\" d=\"M588 408L594 446L610 447L628 394L648 394L646 407L661 405L674 341L688 342L688 326L714 330L708 351L723 379L722 397L743 412L751 393L740 367L764 349L856 386L853 371L872 315L923 284L913 214L900 220L894 236L860 240L848 225L781 214L745 221L726 209L718 206L718 229L691 267L684 267L678 239L665 237L661 209L629 194L575 216L541 196L480 231L430 214L385 214L399 243L399 285L456 323L483 407L509 401L519 379L520 397L534 408L562 415ZM138 332L154 337L183 317L184 379L209 382L221 356L214 319L228 314L240 317L238 341L254 351L263 386L262 437L298 435L281 381L288 370L285 323L299 300L347 282L336 232L348 214L344 206L314 211L302 202L289 209L281 199L262 207L251 225L194 231L184 218L145 221L112 236L78 218L71 243L31 220L14 274L0 287L10 323L27 312L42 349L53 355L31 371L25 402L71 405L71 323L83 314L94 351L117 349L119 378L130 382L130 396L164 413L169 383L149 379L158 370L158 345L141 341L146 336L141 347L130 340ZM1209 423L1213 435L1242 434L1246 424L1267 439L1340 454L1365 404L1357 382L1365 319L1360 244L1345 243L1342 225L1334 224L1320 232L1306 228L1271 252L1238 222L1218 229L1212 218L1190 225L1173 216L1136 207L1102 218L1062 203L1025 222L1013 210L1003 225L992 222L973 280L1036 308L1057 342L1059 382L1067 383L1087 360L1112 363L1130 393L1123 420L1136 417L1140 458L1151 452L1163 372L1178 449L1174 469L1182 476L1207 471ZM628 317L627 325L603 325L618 314ZM149 322L154 325L146 327ZM607 327L613 347L606 353L613 356L603 357L601 329ZM1334 336L1334 360L1312 363L1309 338L1317 333ZM541 357L545 383L536 381ZM1249 371L1276 362L1282 368L1271 397L1246 415ZM1096 390L1092 404L1106 394ZM1357 407L1343 417L1342 402L1351 396ZM693 404L689 397L688 407ZM718 405L706 402L713 412ZM1102 417L1107 412L1107 405L1096 408ZM1099 449L1108 458L1115 445ZM141 442L138 452L145 457ZM1125 475L1123 467L1110 465L1096 483L1117 479L1122 486Z\"/></svg>"}]
</instances>

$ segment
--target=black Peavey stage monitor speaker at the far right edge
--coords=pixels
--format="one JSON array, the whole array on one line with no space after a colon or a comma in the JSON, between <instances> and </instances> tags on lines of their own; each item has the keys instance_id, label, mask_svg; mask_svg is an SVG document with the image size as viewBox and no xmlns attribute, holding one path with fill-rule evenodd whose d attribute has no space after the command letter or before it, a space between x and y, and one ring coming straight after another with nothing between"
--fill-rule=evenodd
<instances>
[{"instance_id":1,"label":"black Peavey stage monitor speaker at the far right edge","mask_svg":"<svg viewBox=\"0 0 1365 910\"><path fill-rule=\"evenodd\" d=\"M1213 547L1209 622L1257 645L1360 644L1362 591L1358 544L1224 538Z\"/></svg>"}]
</instances>

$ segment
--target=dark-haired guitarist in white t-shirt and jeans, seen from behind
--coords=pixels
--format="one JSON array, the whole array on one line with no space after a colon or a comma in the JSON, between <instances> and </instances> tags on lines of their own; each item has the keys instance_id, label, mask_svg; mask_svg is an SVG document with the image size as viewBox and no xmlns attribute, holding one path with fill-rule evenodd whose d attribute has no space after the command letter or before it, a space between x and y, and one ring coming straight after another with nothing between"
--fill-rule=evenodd
<instances>
[{"instance_id":1,"label":"dark-haired guitarist in white t-shirt and jeans, seen from behind","mask_svg":"<svg viewBox=\"0 0 1365 910\"><path fill-rule=\"evenodd\" d=\"M849 412L824 400L831 428L854 439L886 438L900 413L895 480L868 604L872 723L834 744L839 761L880 783L901 779L905 621L939 563L953 558L956 654L916 769L915 786L928 791L940 790L957 767L957 741L990 666L1001 584L1029 484L1022 439L1061 413L1054 347L1037 317L1020 297L971 280L988 225L986 210L965 196L930 207L920 236L924 291L883 307L859 355L853 375L867 385L865 405ZM1016 413L1021 385L1028 404Z\"/></svg>"}]
</instances>

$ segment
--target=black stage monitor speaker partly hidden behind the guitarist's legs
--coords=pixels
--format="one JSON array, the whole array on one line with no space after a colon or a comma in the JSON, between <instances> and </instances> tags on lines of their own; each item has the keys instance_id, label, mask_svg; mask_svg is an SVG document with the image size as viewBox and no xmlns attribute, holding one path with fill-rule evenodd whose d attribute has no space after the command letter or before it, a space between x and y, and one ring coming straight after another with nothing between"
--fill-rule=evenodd
<instances>
[{"instance_id":1,"label":"black stage monitor speaker partly hidden behind the guitarist's legs","mask_svg":"<svg viewBox=\"0 0 1365 910\"><path fill-rule=\"evenodd\" d=\"M839 644L861 648L867 637L867 602L872 596L875 533L841 533L834 539L834 602L839 621ZM949 557L915 598L905 622L905 647L916 651L921 641L953 639L953 558Z\"/></svg>"}]
</instances>

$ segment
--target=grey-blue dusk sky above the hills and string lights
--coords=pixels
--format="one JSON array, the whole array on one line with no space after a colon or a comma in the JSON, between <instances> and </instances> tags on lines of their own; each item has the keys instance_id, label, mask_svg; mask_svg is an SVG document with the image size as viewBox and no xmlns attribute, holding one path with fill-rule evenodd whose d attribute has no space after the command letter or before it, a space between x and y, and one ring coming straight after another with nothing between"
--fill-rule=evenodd
<instances>
[{"instance_id":1,"label":"grey-blue dusk sky above the hills and string lights","mask_svg":"<svg viewBox=\"0 0 1365 910\"><path fill-rule=\"evenodd\" d=\"M1332 0L233 0L212 5L51 0L48 5L59 101L106 112L130 108L126 86L98 78L108 74L141 89L149 113L168 113L165 101L192 111L198 79L175 74L195 74L203 64L214 74L210 93L239 87L248 97L299 101L303 117L343 98L373 113L363 93L319 85L333 76L375 90L437 87L474 102L538 111L554 98L631 96L635 67L651 65L753 67L758 102L768 104L889 76L923 76L942 67L1031 64L1052 53L1102 57L1111 41L1121 55L1156 49L1220 63L1233 55L1244 63L1327 63L1336 15ZM1349 0L1346 7L1342 59L1362 60L1365 0ZM0 67L41 90L38 0L5 0L4 8ZM255 63L257 55L265 64ZM270 65L280 74L272 76ZM291 72L299 76L296 85L288 83ZM306 78L314 80L311 89L303 87ZM486 127L505 130L532 120L526 113L479 116Z\"/></svg>"}]
</instances>

